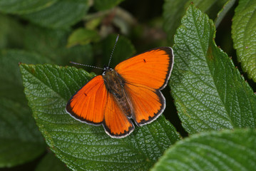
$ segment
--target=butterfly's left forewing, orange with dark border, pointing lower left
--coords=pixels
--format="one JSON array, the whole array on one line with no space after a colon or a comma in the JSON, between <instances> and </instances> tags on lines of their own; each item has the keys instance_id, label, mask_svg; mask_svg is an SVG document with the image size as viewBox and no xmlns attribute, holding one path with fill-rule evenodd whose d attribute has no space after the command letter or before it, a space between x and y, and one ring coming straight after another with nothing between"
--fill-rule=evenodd
<instances>
[{"instance_id":1,"label":"butterfly's left forewing, orange with dark border, pointing lower left","mask_svg":"<svg viewBox=\"0 0 256 171\"><path fill-rule=\"evenodd\" d=\"M107 90L103 78L96 76L68 100L66 111L77 120L101 125L106 100Z\"/></svg>"}]
</instances>

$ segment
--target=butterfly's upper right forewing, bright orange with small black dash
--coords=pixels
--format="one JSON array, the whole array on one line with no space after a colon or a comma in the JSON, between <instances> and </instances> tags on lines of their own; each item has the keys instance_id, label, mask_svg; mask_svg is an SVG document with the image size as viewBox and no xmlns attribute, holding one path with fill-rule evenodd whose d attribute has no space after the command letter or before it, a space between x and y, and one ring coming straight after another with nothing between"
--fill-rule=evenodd
<instances>
[{"instance_id":1,"label":"butterfly's upper right forewing, bright orange with small black dash","mask_svg":"<svg viewBox=\"0 0 256 171\"><path fill-rule=\"evenodd\" d=\"M128 82L153 89L163 89L173 67L169 47L154 48L119 63L115 70Z\"/></svg>"}]
</instances>

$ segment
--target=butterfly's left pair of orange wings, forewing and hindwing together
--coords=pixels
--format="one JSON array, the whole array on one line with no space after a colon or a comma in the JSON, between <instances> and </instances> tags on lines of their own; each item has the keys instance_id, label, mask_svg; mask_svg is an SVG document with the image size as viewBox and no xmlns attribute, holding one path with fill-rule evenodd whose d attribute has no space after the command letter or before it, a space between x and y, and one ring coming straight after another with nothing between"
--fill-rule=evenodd
<instances>
[{"instance_id":1,"label":"butterfly's left pair of orange wings, forewing and hindwing together","mask_svg":"<svg viewBox=\"0 0 256 171\"><path fill-rule=\"evenodd\" d=\"M101 125L108 135L122 138L134 130L133 123L108 93L102 76L96 76L78 90L66 105L73 118L92 125Z\"/></svg>"}]
</instances>

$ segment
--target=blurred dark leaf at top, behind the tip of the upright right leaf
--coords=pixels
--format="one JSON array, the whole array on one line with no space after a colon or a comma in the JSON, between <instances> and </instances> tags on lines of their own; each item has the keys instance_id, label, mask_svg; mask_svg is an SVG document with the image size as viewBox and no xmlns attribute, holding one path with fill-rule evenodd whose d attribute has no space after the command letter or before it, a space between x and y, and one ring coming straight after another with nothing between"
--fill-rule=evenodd
<instances>
[{"instance_id":1,"label":"blurred dark leaf at top, behind the tip of the upright right leaf","mask_svg":"<svg viewBox=\"0 0 256 171\"><path fill-rule=\"evenodd\" d=\"M173 43L173 36L176 29L180 26L181 17L185 14L185 9L189 4L194 4L203 13L207 13L210 19L215 19L217 13L222 9L228 0L165 0L163 5L163 28L168 33L168 41Z\"/></svg>"}]
</instances>

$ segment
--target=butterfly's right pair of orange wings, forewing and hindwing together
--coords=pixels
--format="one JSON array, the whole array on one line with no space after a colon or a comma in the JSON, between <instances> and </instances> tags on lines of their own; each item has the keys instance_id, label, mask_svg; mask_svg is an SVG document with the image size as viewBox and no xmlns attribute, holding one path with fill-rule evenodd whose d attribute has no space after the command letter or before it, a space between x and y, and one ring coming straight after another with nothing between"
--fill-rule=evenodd
<instances>
[{"instance_id":1,"label":"butterfly's right pair of orange wings, forewing and hindwing together","mask_svg":"<svg viewBox=\"0 0 256 171\"><path fill-rule=\"evenodd\" d=\"M172 68L173 50L169 47L154 48L116 66L126 81L125 90L137 125L150 123L163 113L165 98L160 90L168 83Z\"/></svg>"}]
</instances>

